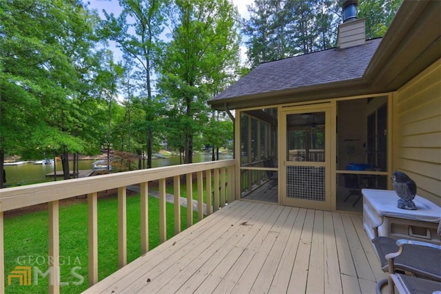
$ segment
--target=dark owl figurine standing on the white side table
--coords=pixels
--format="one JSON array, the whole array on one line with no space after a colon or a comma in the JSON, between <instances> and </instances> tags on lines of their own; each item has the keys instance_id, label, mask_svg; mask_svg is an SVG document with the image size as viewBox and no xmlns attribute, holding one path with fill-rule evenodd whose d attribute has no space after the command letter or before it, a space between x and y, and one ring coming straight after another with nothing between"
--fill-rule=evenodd
<instances>
[{"instance_id":1,"label":"dark owl figurine standing on the white side table","mask_svg":"<svg viewBox=\"0 0 441 294\"><path fill-rule=\"evenodd\" d=\"M415 182L401 171L395 171L391 178L392 187L398 197L400 197L400 199L398 199L398 208L416 210L416 204L412 201L416 195Z\"/></svg>"}]
</instances>

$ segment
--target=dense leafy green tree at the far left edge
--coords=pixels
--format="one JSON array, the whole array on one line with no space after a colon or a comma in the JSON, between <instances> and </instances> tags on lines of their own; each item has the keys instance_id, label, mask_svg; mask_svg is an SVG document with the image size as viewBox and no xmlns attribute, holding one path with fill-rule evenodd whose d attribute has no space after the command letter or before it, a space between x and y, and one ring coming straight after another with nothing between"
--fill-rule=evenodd
<instances>
[{"instance_id":1,"label":"dense leafy green tree at the far left edge","mask_svg":"<svg viewBox=\"0 0 441 294\"><path fill-rule=\"evenodd\" d=\"M77 99L88 92L96 15L81 1L10 0L0 19L0 159L84 151Z\"/></svg>"}]
</instances>

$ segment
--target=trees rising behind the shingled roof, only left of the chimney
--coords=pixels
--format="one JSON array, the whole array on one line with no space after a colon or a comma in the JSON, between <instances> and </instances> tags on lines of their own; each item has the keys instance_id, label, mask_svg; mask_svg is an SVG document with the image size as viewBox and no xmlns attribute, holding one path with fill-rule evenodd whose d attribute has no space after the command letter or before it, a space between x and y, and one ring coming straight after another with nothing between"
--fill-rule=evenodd
<instances>
[{"instance_id":1,"label":"trees rising behind the shingled roof, only left of the chimney","mask_svg":"<svg viewBox=\"0 0 441 294\"><path fill-rule=\"evenodd\" d=\"M242 21L251 67L331 47L335 6L331 0L255 0Z\"/></svg>"}]
</instances>

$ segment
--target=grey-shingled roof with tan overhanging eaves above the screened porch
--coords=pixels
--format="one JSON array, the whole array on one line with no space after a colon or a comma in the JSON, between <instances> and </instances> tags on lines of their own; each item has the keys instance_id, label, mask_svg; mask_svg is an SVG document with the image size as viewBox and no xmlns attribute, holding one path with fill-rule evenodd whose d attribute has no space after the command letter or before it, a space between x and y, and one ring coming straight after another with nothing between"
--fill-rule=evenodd
<instances>
[{"instance_id":1,"label":"grey-shingled roof with tan overhanging eaves above the screened porch","mask_svg":"<svg viewBox=\"0 0 441 294\"><path fill-rule=\"evenodd\" d=\"M369 44L373 43L369 42L379 40L367 41L366 45L345 49L347 52L356 52L356 56L361 54L360 58L367 57L367 66L364 62L360 63L360 59L351 58L350 61L355 61L352 64L358 67L349 71L341 70L339 55L329 50L291 58L290 62L296 66L296 62L305 59L306 56L314 63L302 68L311 69L312 72L299 70L297 66L289 72L288 59L263 63L209 101L209 104L215 109L241 109L398 90L441 58L440 15L441 1L404 1L389 30L378 47L376 45L374 48L375 54L371 54L372 48ZM332 54L329 55L330 53ZM324 54L329 61L315 58ZM314 58L311 58L312 56ZM283 69L279 65L287 68ZM340 69L340 76L330 68L331 66ZM334 73L334 78L318 78L315 83L308 83L311 74L314 74L314 68L327 76ZM258 74L260 70L263 70L265 75ZM362 72L359 72L360 70ZM348 76L347 73L351 75ZM283 82L280 87L274 86L275 83L294 75L296 78L293 78L299 82ZM263 80L255 83L254 76L262 76ZM250 87L250 83L257 84L258 88Z\"/></svg>"}]
</instances>

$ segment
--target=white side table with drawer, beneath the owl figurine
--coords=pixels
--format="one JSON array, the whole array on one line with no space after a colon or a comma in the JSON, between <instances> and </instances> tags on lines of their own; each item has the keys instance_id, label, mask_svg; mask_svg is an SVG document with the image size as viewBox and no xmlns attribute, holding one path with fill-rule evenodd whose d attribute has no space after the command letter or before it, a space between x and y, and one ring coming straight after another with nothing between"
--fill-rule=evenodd
<instances>
[{"instance_id":1,"label":"white side table with drawer, beneath the owl figurine","mask_svg":"<svg viewBox=\"0 0 441 294\"><path fill-rule=\"evenodd\" d=\"M362 189L363 225L369 239L386 236L441 244L437 232L441 222L441 207L416 196L417 210L399 209L395 191Z\"/></svg>"}]
</instances>

